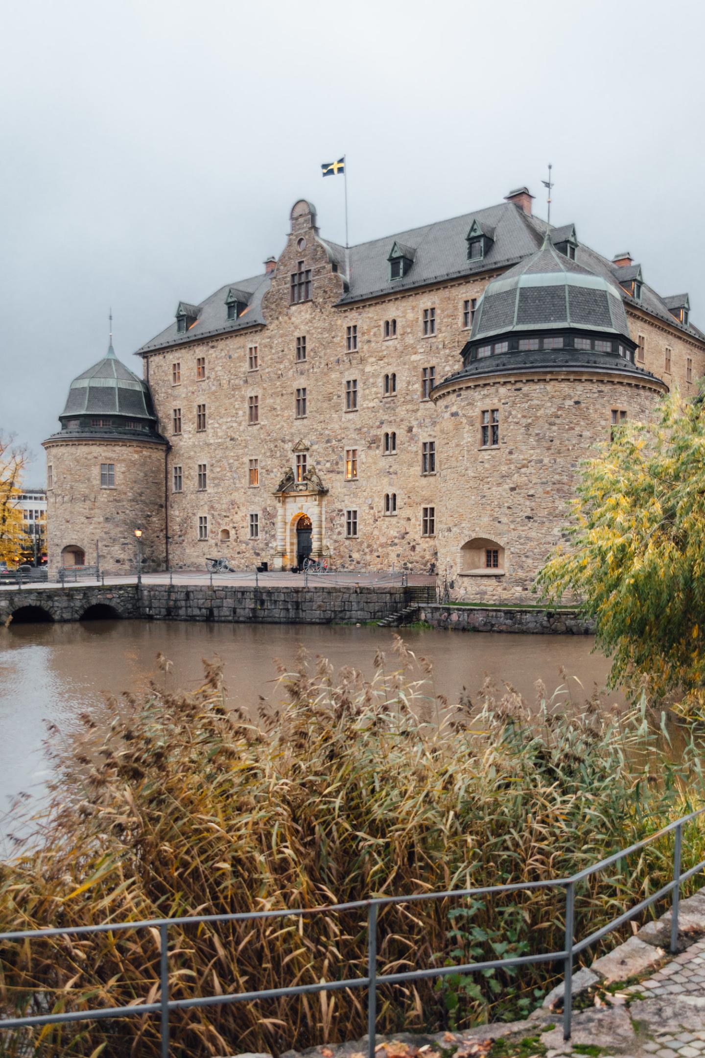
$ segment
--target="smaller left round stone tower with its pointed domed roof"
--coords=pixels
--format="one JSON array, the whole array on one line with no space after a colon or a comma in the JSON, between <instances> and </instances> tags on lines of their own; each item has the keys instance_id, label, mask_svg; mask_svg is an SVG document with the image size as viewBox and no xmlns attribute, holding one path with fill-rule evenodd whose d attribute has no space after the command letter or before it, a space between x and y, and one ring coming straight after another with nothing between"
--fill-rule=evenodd
<instances>
[{"instance_id":1,"label":"smaller left round stone tower with its pointed domed roof","mask_svg":"<svg viewBox=\"0 0 705 1058\"><path fill-rule=\"evenodd\" d=\"M112 343L73 380L59 421L59 433L43 442L50 569L132 572L135 529L144 565L164 568L168 442L157 431L149 386L117 360Z\"/></svg>"}]
</instances>

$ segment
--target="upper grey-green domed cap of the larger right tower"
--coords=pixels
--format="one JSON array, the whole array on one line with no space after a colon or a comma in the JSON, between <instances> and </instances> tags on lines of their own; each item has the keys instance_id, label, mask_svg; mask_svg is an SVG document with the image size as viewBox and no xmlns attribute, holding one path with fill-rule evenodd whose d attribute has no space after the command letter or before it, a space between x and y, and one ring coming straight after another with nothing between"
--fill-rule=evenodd
<instances>
[{"instance_id":1,"label":"upper grey-green domed cap of the larger right tower","mask_svg":"<svg viewBox=\"0 0 705 1058\"><path fill-rule=\"evenodd\" d=\"M614 280L565 257L546 238L540 250L487 284L470 340L565 327L629 335Z\"/></svg>"}]
</instances>

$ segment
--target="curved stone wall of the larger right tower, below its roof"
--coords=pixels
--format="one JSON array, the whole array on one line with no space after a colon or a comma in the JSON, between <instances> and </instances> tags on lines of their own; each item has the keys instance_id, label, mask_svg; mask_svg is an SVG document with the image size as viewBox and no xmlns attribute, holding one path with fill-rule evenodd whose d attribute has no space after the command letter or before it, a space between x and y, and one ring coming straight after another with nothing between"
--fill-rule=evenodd
<instances>
[{"instance_id":1,"label":"curved stone wall of the larger right tower, below its roof","mask_svg":"<svg viewBox=\"0 0 705 1058\"><path fill-rule=\"evenodd\" d=\"M532 584L564 539L580 461L610 437L611 412L646 419L654 384L579 371L465 380L438 396L443 501L437 524L439 573L451 597L535 603ZM497 448L481 448L483 409L499 411ZM475 546L479 558L472 568ZM497 570L485 549L497 549ZM570 600L567 600L570 602Z\"/></svg>"}]
</instances>

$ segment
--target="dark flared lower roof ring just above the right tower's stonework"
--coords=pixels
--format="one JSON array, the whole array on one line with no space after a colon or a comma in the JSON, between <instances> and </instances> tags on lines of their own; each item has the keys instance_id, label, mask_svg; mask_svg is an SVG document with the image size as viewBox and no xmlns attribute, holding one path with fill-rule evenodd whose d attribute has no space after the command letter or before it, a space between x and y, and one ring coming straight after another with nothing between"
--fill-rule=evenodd
<instances>
[{"instance_id":1,"label":"dark flared lower roof ring just above the right tower's stonework","mask_svg":"<svg viewBox=\"0 0 705 1058\"><path fill-rule=\"evenodd\" d=\"M439 383L437 389L462 379L486 377L491 375L520 373L525 370L580 370L609 371L620 377L636 377L642 381L661 383L665 389L668 386L650 371L637 367L617 353L594 352L590 349L537 349L532 352L505 352L497 357L487 357L467 363L462 370L449 375Z\"/></svg>"}]
</instances>

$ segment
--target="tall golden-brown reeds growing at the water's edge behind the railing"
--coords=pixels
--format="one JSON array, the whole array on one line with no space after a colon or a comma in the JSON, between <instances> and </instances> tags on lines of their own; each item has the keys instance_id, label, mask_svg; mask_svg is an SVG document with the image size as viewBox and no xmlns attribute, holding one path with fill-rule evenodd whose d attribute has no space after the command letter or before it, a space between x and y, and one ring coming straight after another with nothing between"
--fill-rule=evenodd
<instances>
[{"instance_id":1,"label":"tall golden-brown reeds growing at the water's edge behind the railing","mask_svg":"<svg viewBox=\"0 0 705 1058\"><path fill-rule=\"evenodd\" d=\"M366 681L329 662L281 671L286 703L252 723L227 706L218 664L190 694L164 686L124 696L62 744L51 804L0 868L0 930L160 916L315 907L571 874L700 803L692 747L675 763L647 733L645 710L530 713L507 689L477 704L433 696L430 665L397 640ZM686 790L688 791L686 794ZM705 853L684 840L684 867ZM577 896L585 935L670 878L664 839ZM385 908L377 971L560 950L560 890L503 899ZM365 975L366 915L173 928L171 999ZM152 1002L154 930L6 945L5 1013ZM381 989L378 1032L435 1029L527 1010L554 982L538 965L467 980ZM223 1055L355 1039L365 992L175 1011L172 1054ZM6 1054L159 1054L159 1019L10 1034ZM0 1040L0 1046L2 1040ZM96 1052L96 1048L103 1051Z\"/></svg>"}]
</instances>

